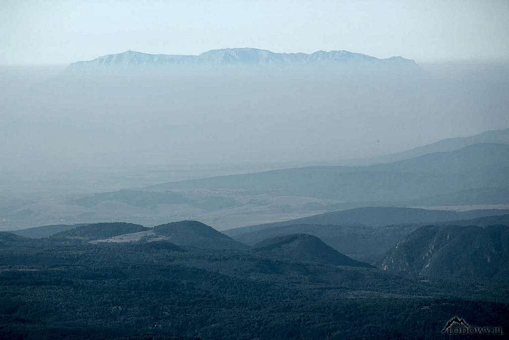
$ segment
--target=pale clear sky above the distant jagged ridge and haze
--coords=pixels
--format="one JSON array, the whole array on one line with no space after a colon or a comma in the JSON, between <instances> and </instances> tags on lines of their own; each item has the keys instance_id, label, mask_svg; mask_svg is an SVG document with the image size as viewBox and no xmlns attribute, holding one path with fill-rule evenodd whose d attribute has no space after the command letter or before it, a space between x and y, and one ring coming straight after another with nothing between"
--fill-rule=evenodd
<instances>
[{"instance_id":1,"label":"pale clear sky above the distant jagged ridge and haze","mask_svg":"<svg viewBox=\"0 0 509 340\"><path fill-rule=\"evenodd\" d=\"M0 64L138 50L345 49L419 63L507 61L509 1L0 1Z\"/></svg>"}]
</instances>

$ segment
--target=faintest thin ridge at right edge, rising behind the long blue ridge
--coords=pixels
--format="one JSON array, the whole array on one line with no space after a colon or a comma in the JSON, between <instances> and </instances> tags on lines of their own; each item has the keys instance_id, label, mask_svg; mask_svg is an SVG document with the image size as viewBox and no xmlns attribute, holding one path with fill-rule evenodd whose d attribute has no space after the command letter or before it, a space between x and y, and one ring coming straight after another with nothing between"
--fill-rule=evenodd
<instances>
[{"instance_id":1,"label":"faintest thin ridge at right edge, rising behind the long blue ridge","mask_svg":"<svg viewBox=\"0 0 509 340\"><path fill-rule=\"evenodd\" d=\"M509 128L501 130L490 130L483 132L482 134L468 137L446 138L435 143L419 146L402 152L391 153L367 159L340 161L338 163L347 166L391 163L409 158L415 158L433 152L454 151L465 146L478 143L509 144Z\"/></svg>"}]
</instances>

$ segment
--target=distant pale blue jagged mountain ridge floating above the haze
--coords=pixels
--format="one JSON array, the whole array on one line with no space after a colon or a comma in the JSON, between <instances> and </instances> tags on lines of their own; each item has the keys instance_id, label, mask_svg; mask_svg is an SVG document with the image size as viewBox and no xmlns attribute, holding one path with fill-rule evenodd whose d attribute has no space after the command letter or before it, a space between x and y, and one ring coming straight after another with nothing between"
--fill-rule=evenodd
<instances>
[{"instance_id":1,"label":"distant pale blue jagged mountain ridge floating above the haze","mask_svg":"<svg viewBox=\"0 0 509 340\"><path fill-rule=\"evenodd\" d=\"M372 56L345 50L316 51L305 53L274 53L258 48L222 48L206 51L198 56L148 54L128 50L111 54L91 61L78 61L69 65L69 70L93 70L112 67L139 66L197 66L197 65L284 65L284 64L324 64L324 63L369 63L385 65L417 65L415 61L403 57L379 59Z\"/></svg>"}]
</instances>

